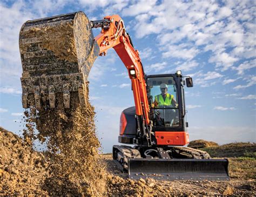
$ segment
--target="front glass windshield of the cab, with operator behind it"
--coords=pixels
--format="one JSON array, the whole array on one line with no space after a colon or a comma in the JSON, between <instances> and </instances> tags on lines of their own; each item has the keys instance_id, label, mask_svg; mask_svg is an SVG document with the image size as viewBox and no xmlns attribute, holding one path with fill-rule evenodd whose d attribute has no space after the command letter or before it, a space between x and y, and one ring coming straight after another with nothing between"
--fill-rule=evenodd
<instances>
[{"instance_id":1,"label":"front glass windshield of the cab, with operator behind it","mask_svg":"<svg viewBox=\"0 0 256 197\"><path fill-rule=\"evenodd\" d=\"M178 127L179 109L177 85L173 77L147 78L153 125Z\"/></svg>"}]
</instances>

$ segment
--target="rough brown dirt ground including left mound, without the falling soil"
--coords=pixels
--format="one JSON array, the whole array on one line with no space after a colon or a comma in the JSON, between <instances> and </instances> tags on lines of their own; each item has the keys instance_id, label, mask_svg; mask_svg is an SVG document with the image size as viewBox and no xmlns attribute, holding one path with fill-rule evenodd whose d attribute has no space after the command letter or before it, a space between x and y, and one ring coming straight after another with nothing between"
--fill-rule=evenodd
<instances>
[{"instance_id":1,"label":"rough brown dirt ground including left mound, without the falling soil","mask_svg":"<svg viewBox=\"0 0 256 197\"><path fill-rule=\"evenodd\" d=\"M231 181L156 181L127 179L112 161L111 154L101 156L106 162L105 196L171 195L256 195L256 144L233 143L207 147L214 157L228 158ZM239 150L239 151L235 151ZM236 153L234 155L233 153ZM239 152L239 153L238 153ZM225 153L225 154L224 154ZM231 155L231 157L230 157ZM0 128L0 195L49 195L42 188L45 155L33 151L17 135Z\"/></svg>"}]
</instances>

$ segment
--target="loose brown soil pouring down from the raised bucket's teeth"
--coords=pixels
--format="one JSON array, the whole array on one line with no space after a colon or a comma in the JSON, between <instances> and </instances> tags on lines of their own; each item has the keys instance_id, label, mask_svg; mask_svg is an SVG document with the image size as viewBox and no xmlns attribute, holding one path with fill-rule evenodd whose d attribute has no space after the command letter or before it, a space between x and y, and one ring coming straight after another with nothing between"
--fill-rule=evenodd
<instances>
[{"instance_id":1,"label":"loose brown soil pouring down from the raised bucket's teeth","mask_svg":"<svg viewBox=\"0 0 256 197\"><path fill-rule=\"evenodd\" d=\"M91 195L104 193L104 164L99 161L99 141L95 131L94 108L79 105L78 93L71 94L71 107L64 108L63 96L57 95L56 108L26 112L28 144L39 139L46 143L50 160L42 188L50 195ZM31 129L33 125L36 130Z\"/></svg>"}]
</instances>

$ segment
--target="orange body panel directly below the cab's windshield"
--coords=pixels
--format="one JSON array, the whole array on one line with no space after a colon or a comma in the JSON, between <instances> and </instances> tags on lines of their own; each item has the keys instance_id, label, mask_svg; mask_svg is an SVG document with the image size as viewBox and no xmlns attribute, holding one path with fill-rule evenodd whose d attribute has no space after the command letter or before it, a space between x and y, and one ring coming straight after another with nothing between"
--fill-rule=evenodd
<instances>
[{"instance_id":1,"label":"orange body panel directly below the cab's windshield","mask_svg":"<svg viewBox=\"0 0 256 197\"><path fill-rule=\"evenodd\" d=\"M184 146L189 142L185 131L156 131L157 145Z\"/></svg>"}]
</instances>

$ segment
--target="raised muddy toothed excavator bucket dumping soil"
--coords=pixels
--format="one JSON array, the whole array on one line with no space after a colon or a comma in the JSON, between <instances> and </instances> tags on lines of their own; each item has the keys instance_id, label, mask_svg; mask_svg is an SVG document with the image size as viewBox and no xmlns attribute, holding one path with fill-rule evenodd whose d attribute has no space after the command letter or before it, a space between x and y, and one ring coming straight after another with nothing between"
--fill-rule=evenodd
<instances>
[{"instance_id":1,"label":"raised muddy toothed excavator bucket dumping soil","mask_svg":"<svg viewBox=\"0 0 256 197\"><path fill-rule=\"evenodd\" d=\"M54 108L57 93L69 108L74 92L85 107L87 76L99 46L83 12L25 22L19 32L19 50L24 108Z\"/></svg>"}]
</instances>

